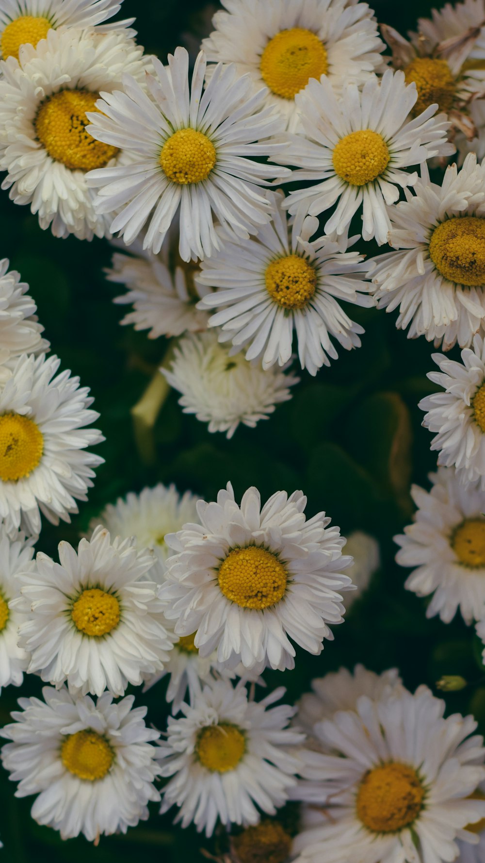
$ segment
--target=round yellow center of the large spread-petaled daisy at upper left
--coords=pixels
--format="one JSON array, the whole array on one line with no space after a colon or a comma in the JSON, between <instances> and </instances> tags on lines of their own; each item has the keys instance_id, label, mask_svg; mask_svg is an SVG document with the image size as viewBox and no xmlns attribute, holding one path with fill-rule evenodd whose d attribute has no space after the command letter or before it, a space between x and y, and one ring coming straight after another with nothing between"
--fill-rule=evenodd
<instances>
[{"instance_id":1,"label":"round yellow center of the large spread-petaled daisy at upper left","mask_svg":"<svg viewBox=\"0 0 485 863\"><path fill-rule=\"evenodd\" d=\"M201 183L216 164L216 148L202 132L179 129L161 148L160 164L173 183Z\"/></svg>"}]
</instances>

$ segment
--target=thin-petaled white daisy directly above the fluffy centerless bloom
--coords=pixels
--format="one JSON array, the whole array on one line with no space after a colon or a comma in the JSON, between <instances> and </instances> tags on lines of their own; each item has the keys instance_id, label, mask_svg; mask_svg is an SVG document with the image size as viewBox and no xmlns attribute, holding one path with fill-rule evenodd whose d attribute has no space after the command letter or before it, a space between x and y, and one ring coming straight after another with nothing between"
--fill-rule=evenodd
<instances>
[{"instance_id":1,"label":"thin-petaled white daisy directly above the fluffy centerless bloom","mask_svg":"<svg viewBox=\"0 0 485 863\"><path fill-rule=\"evenodd\" d=\"M345 251L335 237L309 243L318 220L288 220L282 194L268 195L268 200L272 222L257 238L225 243L202 264L198 281L218 290L198 308L220 308L209 326L220 326L220 341L232 340L235 349L249 345L246 359L261 359L263 369L289 361L295 331L301 368L316 375L337 358L332 337L346 350L360 347L362 326L340 303L374 305L363 280L368 264L357 252Z\"/></svg>"}]
</instances>

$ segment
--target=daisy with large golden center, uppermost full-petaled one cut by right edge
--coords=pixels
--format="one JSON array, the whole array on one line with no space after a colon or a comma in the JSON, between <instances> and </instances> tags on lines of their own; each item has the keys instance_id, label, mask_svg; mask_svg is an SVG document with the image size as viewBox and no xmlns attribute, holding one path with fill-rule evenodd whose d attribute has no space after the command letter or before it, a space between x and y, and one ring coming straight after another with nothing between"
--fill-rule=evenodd
<instances>
[{"instance_id":1,"label":"daisy with large golden center, uppermost full-petaled one cut by right edge","mask_svg":"<svg viewBox=\"0 0 485 863\"><path fill-rule=\"evenodd\" d=\"M374 259L375 299L387 312L399 306L409 338L468 347L485 318L485 166L469 154L441 186L423 166L414 192L389 207L389 245L400 251Z\"/></svg>"}]
</instances>

